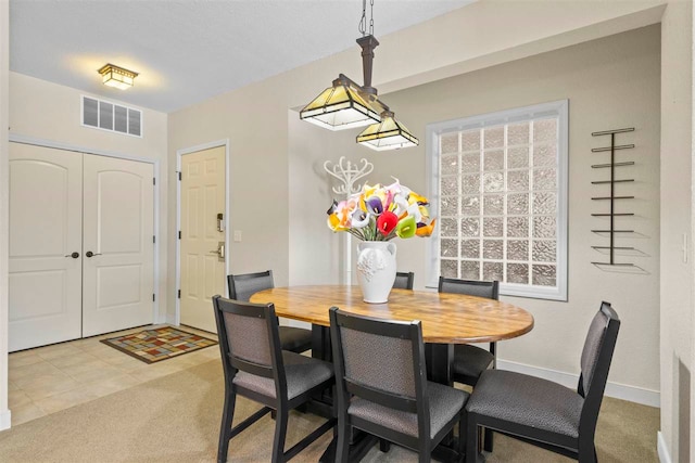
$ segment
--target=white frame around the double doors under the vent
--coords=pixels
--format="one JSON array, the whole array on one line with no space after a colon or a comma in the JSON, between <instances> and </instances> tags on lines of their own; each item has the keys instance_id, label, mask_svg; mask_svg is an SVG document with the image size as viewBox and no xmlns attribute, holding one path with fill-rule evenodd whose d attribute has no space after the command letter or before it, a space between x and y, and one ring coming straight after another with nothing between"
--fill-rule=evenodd
<instances>
[{"instance_id":1,"label":"white frame around the double doors under the vent","mask_svg":"<svg viewBox=\"0 0 695 463\"><path fill-rule=\"evenodd\" d=\"M42 147L52 147L55 150L63 150L63 151L74 151L77 153L84 153L84 154L90 154L90 155L94 155L94 156L105 156L105 157L116 157L118 159L126 159L126 160L135 160L138 163L146 163L146 164L151 164L152 165L152 170L153 170L153 175L154 175L154 181L156 182L157 188L154 188L154 195L152 197L152 201L154 202L154 210L153 210L153 215L154 217L152 218L152 226L153 226L153 233L155 236L155 243L154 243L154 253L153 253L153 259L154 259L154 287L152 288L152 291L154 292L154 301L152 303L152 324L157 324L157 323L165 323L166 322L166 311L162 312L160 310L160 285L159 285L159 281L160 281L160 246L162 246L162 239L161 239L161 234L160 234L160 188L162 185L161 181L160 181L160 159L153 159L153 158L149 158L149 157L141 157L141 156L131 156L128 154L123 154L123 153L118 153L118 152L113 152L113 151L106 151L106 150L97 150L97 149L92 149L92 147L85 147L85 146L79 146L79 145L75 145L75 144L70 144L70 143L61 143L61 142L56 142L53 140L45 140L45 139L39 139L39 138L35 138L35 137L28 137L28 136L22 136L22 134L17 134L17 133L10 133L9 137L9 142L10 143L21 143L21 144L28 144L28 145L34 145L34 146L42 146Z\"/></svg>"}]
</instances>

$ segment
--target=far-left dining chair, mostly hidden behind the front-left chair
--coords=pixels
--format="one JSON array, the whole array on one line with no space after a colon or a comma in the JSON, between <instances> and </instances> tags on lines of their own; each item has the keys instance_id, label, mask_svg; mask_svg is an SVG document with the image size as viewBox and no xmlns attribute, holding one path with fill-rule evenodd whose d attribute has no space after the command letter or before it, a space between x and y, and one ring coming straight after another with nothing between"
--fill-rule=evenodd
<instances>
[{"instance_id":1,"label":"far-left dining chair, mostly hidden behind the front-left chair","mask_svg":"<svg viewBox=\"0 0 695 463\"><path fill-rule=\"evenodd\" d=\"M275 287L273 270L237 275L230 274L227 275L227 285L229 286L230 299L249 301L249 298L254 293ZM311 330L280 325L279 332L282 350L302 353L312 348Z\"/></svg>"}]
</instances>

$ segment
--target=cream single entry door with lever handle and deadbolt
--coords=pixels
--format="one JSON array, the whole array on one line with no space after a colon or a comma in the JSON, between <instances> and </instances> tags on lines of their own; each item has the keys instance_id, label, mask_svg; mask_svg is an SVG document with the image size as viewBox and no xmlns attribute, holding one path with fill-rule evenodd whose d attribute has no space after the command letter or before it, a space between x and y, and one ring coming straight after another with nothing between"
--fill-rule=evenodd
<instances>
[{"instance_id":1,"label":"cream single entry door with lever handle and deadbolt","mask_svg":"<svg viewBox=\"0 0 695 463\"><path fill-rule=\"evenodd\" d=\"M226 294L225 147L181 156L180 322L217 332L212 296ZM226 249L225 249L226 250Z\"/></svg>"}]
</instances>

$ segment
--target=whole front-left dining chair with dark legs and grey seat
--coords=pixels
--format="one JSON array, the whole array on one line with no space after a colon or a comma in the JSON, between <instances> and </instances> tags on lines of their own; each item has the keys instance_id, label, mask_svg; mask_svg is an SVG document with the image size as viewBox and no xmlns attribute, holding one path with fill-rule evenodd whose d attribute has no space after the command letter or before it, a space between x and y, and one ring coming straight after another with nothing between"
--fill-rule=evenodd
<instances>
[{"instance_id":1,"label":"whole front-left dining chair with dark legs and grey seat","mask_svg":"<svg viewBox=\"0 0 695 463\"><path fill-rule=\"evenodd\" d=\"M271 461L286 462L336 425L336 419L328 420L285 451L289 411L311 400L312 394L333 385L332 366L328 362L280 349L273 304L242 303L214 296L213 306L225 374L217 462L227 461L231 438L270 411L276 411ZM264 407L232 428L238 394Z\"/></svg>"}]
</instances>

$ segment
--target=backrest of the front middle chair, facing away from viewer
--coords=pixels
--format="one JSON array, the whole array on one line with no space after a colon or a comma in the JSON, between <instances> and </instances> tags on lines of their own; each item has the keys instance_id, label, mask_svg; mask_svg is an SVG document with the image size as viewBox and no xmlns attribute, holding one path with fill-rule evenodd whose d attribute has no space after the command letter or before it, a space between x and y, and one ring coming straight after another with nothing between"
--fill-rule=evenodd
<instances>
[{"instance_id":1,"label":"backrest of the front middle chair, facing away from viewer","mask_svg":"<svg viewBox=\"0 0 695 463\"><path fill-rule=\"evenodd\" d=\"M418 414L420 436L430 434L422 325L330 309L338 406L354 395Z\"/></svg>"}]
</instances>

